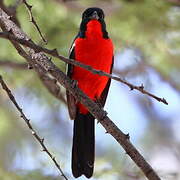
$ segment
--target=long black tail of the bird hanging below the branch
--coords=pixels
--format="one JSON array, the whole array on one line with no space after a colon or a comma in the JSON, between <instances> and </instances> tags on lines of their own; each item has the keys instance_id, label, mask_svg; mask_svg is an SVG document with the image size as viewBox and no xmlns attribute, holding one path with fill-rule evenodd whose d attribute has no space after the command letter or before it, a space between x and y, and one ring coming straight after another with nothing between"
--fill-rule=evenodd
<instances>
[{"instance_id":1,"label":"long black tail of the bird hanging below the branch","mask_svg":"<svg viewBox=\"0 0 180 180\"><path fill-rule=\"evenodd\" d=\"M90 178L94 169L94 117L88 113L86 115L76 115L74 120L74 136L72 147L72 172L74 177L84 174Z\"/></svg>"}]
</instances>

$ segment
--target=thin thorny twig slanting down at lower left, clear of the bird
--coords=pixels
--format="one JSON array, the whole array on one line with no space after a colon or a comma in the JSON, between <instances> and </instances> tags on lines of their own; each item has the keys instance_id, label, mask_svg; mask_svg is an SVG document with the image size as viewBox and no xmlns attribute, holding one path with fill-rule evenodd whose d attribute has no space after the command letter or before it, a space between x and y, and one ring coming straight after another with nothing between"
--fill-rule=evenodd
<instances>
[{"instance_id":1,"label":"thin thorny twig slanting down at lower left, clear of the bird","mask_svg":"<svg viewBox=\"0 0 180 180\"><path fill-rule=\"evenodd\" d=\"M44 138L41 138L37 132L34 130L34 128L32 127L30 120L26 117L26 115L23 113L22 108L20 108L20 106L18 105L15 97L13 96L13 94L11 93L11 90L8 88L8 86L6 85L6 83L4 82L2 76L0 75L0 83L2 88L6 91L9 99L12 101L12 103L16 106L17 110L20 113L20 117L25 121L25 123L27 124L28 128L30 129L32 135L35 137L35 139L39 142L39 144L41 145L41 147L43 148L43 151L46 152L48 154L48 156L51 158L51 160L54 162L54 164L56 165L56 167L58 168L59 172L61 173L61 176L64 177L64 179L68 180L68 178L66 177L66 175L64 174L64 172L62 171L60 165L58 164L58 162L56 161L55 156L53 156L48 148L46 147L46 145L44 144Z\"/></svg>"}]
</instances>

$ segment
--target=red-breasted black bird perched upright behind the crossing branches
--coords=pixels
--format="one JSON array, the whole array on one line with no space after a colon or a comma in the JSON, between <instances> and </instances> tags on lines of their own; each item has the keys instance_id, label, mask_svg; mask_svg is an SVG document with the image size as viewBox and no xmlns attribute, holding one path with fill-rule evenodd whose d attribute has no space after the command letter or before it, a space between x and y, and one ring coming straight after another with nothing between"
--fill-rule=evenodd
<instances>
[{"instance_id":1,"label":"red-breasted black bird perched upright behind the crossing branches","mask_svg":"<svg viewBox=\"0 0 180 180\"><path fill-rule=\"evenodd\" d=\"M112 73L114 47L106 31L105 14L101 8L90 7L82 13L77 36L70 48L69 58L96 70ZM71 64L67 76L99 106L104 107L111 79ZM74 120L71 168L75 178L92 177L95 161L95 118L68 90L66 91L70 118Z\"/></svg>"}]
</instances>

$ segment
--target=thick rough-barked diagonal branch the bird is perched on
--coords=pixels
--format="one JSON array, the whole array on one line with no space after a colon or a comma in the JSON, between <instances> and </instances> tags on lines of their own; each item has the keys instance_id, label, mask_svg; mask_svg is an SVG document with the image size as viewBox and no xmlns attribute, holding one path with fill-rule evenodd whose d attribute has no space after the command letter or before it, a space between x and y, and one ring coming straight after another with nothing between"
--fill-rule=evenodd
<instances>
[{"instance_id":1,"label":"thick rough-barked diagonal branch the bird is perched on","mask_svg":"<svg viewBox=\"0 0 180 180\"><path fill-rule=\"evenodd\" d=\"M9 16L0 9L0 26L3 30L10 31L16 38L28 40L29 38L23 33L10 19ZM29 42L29 41L27 41ZM141 168L145 176L149 180L160 180L159 176L146 162L138 150L131 144L129 135L125 135L107 116L107 113L85 95L77 86L74 86L71 79L67 77L60 69L58 69L51 60L42 52L36 53L33 49L27 48L29 56L32 58L34 66L38 64L46 73L54 77L58 83L67 88L72 95L84 104L91 114L100 122L106 129L107 133L111 134L116 141L124 148L131 159ZM54 51L55 52L55 51ZM55 53L56 54L56 53ZM72 60L69 60L72 61ZM39 67L37 66L37 68Z\"/></svg>"}]
</instances>

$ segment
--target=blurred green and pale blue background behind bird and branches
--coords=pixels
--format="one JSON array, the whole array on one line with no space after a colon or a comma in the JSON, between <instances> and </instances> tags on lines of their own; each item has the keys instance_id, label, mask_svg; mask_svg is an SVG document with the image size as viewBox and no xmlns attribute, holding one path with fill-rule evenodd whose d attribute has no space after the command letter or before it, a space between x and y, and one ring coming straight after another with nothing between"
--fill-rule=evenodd
<instances>
[{"instance_id":1,"label":"blurred green and pale blue background behind bird and branches","mask_svg":"<svg viewBox=\"0 0 180 180\"><path fill-rule=\"evenodd\" d=\"M179 0L28 0L48 40L44 45L20 1L1 0L16 7L21 28L36 43L68 56L87 7L103 8L115 45L113 73L164 97L164 105L124 84L112 81L105 106L163 180L180 179L180 1ZM65 64L52 61L65 71ZM69 179L73 122L66 103L53 97L12 45L0 39L0 74ZM65 89L61 88L65 96ZM6 93L0 88L0 179L56 180L58 170L32 137ZM80 180L85 177L79 178ZM96 161L92 178L145 179L134 162L104 128L96 125Z\"/></svg>"}]
</instances>

